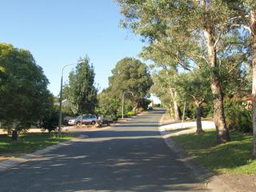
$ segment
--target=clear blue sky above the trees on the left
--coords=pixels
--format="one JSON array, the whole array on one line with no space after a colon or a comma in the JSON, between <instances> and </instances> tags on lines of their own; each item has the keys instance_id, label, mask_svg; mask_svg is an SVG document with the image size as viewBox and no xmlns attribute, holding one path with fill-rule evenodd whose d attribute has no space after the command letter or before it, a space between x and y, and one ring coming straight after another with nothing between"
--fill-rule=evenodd
<instances>
[{"instance_id":1,"label":"clear blue sky above the trees on the left","mask_svg":"<svg viewBox=\"0 0 256 192\"><path fill-rule=\"evenodd\" d=\"M86 54L95 68L95 82L108 86L108 77L122 58L138 58L142 42L119 27L122 15L112 0L0 0L0 42L30 50L50 81L60 89L62 66ZM72 66L67 67L64 80Z\"/></svg>"}]
</instances>

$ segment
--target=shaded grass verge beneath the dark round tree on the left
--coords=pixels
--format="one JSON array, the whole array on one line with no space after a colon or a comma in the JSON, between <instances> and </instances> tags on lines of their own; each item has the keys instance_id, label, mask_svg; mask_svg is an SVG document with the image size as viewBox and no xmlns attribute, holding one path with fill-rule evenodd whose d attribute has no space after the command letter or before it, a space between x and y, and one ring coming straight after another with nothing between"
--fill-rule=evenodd
<instances>
[{"instance_id":1,"label":"shaded grass verge beneath the dark round tree on the left","mask_svg":"<svg viewBox=\"0 0 256 192\"><path fill-rule=\"evenodd\" d=\"M76 137L74 134L63 134L61 137L50 136L50 134L20 134L18 141L12 141L10 136L0 137L0 157L18 157L29 154L36 150L52 146L58 142L65 142Z\"/></svg>"}]
</instances>

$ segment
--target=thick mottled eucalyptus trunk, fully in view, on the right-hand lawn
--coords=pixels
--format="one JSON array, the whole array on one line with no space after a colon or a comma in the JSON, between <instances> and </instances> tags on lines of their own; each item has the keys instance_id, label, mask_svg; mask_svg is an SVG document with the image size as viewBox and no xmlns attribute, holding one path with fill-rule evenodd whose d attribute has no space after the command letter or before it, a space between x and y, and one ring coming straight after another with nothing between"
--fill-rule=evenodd
<instances>
[{"instance_id":1,"label":"thick mottled eucalyptus trunk, fully in view, on the right-hand lawn","mask_svg":"<svg viewBox=\"0 0 256 192\"><path fill-rule=\"evenodd\" d=\"M214 45L213 30L205 29L204 34L207 42L208 56L210 61L210 67L213 70L210 77L211 90L214 95L214 123L216 126L216 136L218 144L229 142L230 134L226 126L224 108L223 108L223 94L220 86L220 80L218 78L218 72L216 72L217 60L216 60L216 47Z\"/></svg>"}]
</instances>

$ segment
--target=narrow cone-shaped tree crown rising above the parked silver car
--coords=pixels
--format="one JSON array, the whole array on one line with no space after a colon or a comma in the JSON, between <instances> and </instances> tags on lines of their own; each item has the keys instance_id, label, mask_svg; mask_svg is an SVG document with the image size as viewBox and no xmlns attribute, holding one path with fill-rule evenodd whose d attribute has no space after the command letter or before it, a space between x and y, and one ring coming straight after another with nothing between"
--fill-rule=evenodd
<instances>
[{"instance_id":1,"label":"narrow cone-shaped tree crown rising above the parked silver car","mask_svg":"<svg viewBox=\"0 0 256 192\"><path fill-rule=\"evenodd\" d=\"M65 97L74 114L93 114L97 106L97 89L94 86L94 66L89 58L81 58L76 69L70 73Z\"/></svg>"}]
</instances>

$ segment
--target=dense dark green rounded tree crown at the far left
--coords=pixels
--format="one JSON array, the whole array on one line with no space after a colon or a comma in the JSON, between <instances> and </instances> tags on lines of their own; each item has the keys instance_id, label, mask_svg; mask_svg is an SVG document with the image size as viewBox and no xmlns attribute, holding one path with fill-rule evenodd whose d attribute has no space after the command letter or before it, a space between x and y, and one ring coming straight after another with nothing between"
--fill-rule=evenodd
<instances>
[{"instance_id":1,"label":"dense dark green rounded tree crown at the far left","mask_svg":"<svg viewBox=\"0 0 256 192\"><path fill-rule=\"evenodd\" d=\"M0 44L0 122L7 130L24 130L50 108L48 79L28 50Z\"/></svg>"}]
</instances>

